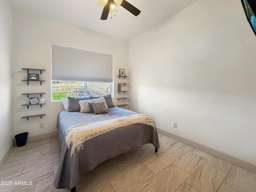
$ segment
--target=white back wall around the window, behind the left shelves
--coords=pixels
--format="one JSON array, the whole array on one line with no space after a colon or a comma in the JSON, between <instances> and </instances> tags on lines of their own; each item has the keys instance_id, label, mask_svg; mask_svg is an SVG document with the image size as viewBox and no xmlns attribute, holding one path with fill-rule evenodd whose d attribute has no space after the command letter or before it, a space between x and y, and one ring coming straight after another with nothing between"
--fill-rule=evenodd
<instances>
[{"instance_id":1,"label":"white back wall around the window, behind the left shelves","mask_svg":"<svg viewBox=\"0 0 256 192\"><path fill-rule=\"evenodd\" d=\"M116 93L119 68L128 70L127 41L22 10L14 9L13 11L14 134L29 132L28 136L32 137L56 131L58 112L64 108L62 102L51 102L52 43L114 55L114 94ZM21 68L46 69L40 75L40 79L46 82L41 86L39 82L26 85L26 82L21 81L26 80L26 70ZM42 108L30 106L27 109L26 106L21 106L28 103L27 96L21 95L27 92L46 92L42 96L46 104ZM116 102L116 96L115 94L114 102ZM42 119L40 117L21 119L22 116L44 113L46 116ZM44 128L39 128L40 122L44 122Z\"/></svg>"}]
</instances>

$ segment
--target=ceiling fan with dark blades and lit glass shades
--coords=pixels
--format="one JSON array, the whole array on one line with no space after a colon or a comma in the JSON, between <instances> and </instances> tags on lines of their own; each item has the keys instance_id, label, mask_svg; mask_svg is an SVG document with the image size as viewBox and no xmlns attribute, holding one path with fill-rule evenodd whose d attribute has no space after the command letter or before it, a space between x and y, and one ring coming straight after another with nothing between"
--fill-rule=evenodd
<instances>
[{"instance_id":1,"label":"ceiling fan with dark blades and lit glass shades","mask_svg":"<svg viewBox=\"0 0 256 192\"><path fill-rule=\"evenodd\" d=\"M123 8L137 16L140 14L140 10L134 7L132 4L128 3L126 0L99 0L99 3L103 8L101 20L106 20L108 18L108 13L117 12L117 5L121 5Z\"/></svg>"}]
</instances>

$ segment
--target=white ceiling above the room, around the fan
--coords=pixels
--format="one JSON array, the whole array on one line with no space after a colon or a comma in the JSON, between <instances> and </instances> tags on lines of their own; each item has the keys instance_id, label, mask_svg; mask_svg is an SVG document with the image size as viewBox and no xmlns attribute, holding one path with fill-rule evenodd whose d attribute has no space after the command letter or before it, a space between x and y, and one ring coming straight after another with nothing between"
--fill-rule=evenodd
<instances>
[{"instance_id":1,"label":"white ceiling above the room, around the fan","mask_svg":"<svg viewBox=\"0 0 256 192\"><path fill-rule=\"evenodd\" d=\"M118 6L116 16L100 20L103 7L98 0L10 0L12 6L75 24L90 30L130 40L197 0L127 0L141 10L134 16Z\"/></svg>"}]
</instances>

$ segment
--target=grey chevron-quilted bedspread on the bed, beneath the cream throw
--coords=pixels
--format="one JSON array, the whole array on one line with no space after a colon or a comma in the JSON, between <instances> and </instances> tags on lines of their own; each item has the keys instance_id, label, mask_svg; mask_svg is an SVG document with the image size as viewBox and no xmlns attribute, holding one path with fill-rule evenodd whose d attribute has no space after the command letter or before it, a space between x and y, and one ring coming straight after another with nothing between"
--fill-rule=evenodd
<instances>
[{"instance_id":1,"label":"grey chevron-quilted bedspread on the bed, beneath the cream throw","mask_svg":"<svg viewBox=\"0 0 256 192\"><path fill-rule=\"evenodd\" d=\"M90 138L82 143L81 150L74 150L73 155L71 147L66 144L66 132L72 126L136 114L138 113L118 107L110 107L108 113L102 114L61 111L57 119L58 138L62 148L61 160L54 186L75 191L82 172L93 170L101 162L147 143L153 144L157 152L160 146L155 128L141 123L119 127Z\"/></svg>"}]
</instances>

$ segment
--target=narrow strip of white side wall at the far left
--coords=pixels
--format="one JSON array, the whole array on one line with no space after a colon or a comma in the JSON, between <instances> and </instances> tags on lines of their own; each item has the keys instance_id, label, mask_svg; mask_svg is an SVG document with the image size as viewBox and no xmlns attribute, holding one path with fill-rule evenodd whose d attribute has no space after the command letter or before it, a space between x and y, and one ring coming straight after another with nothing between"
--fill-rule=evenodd
<instances>
[{"instance_id":1,"label":"narrow strip of white side wall at the far left","mask_svg":"<svg viewBox=\"0 0 256 192\"><path fill-rule=\"evenodd\" d=\"M13 126L11 114L12 76L12 6L9 0L0 1L0 162L12 146ZM1 165L0 165L1 166Z\"/></svg>"}]
</instances>

